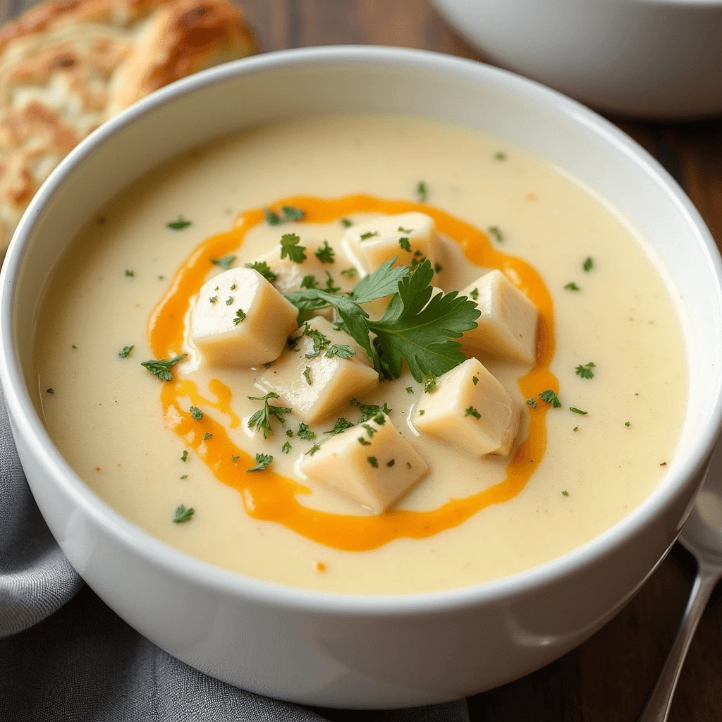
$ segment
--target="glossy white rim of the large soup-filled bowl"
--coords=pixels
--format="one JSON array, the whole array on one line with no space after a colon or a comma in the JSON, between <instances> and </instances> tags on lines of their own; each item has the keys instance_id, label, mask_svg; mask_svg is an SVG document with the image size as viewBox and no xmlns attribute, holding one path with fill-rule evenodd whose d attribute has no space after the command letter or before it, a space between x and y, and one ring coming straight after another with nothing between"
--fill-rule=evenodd
<instances>
[{"instance_id":1,"label":"glossy white rim of the large soup-filled bowl","mask_svg":"<svg viewBox=\"0 0 722 722\"><path fill-rule=\"evenodd\" d=\"M577 101L510 71L431 51L370 45L331 45L264 53L216 66L178 80L123 110L74 148L35 194L14 233L0 273L0 382L8 411L14 422L14 434L19 435L25 445L32 448L32 454L45 472L43 483L55 484L62 495L69 498L74 505L81 507L97 526L119 544L128 547L131 553L139 555L149 565L160 566L168 573L186 578L192 584L211 588L220 593L229 593L241 599L253 600L268 606L326 614L367 616L429 614L479 606L559 582L581 567L590 565L612 552L625 539L651 523L653 518L674 503L688 480L703 469L703 464L716 443L722 423L722 388L719 388L722 383L716 388L716 400L710 412L710 422L695 439L691 440L684 456L675 459L674 465L667 472L667 483L664 484L664 488L658 487L638 508L632 510L610 529L560 557L513 575L471 586L394 594L336 593L287 586L225 570L171 547L136 526L95 495L95 492L92 492L61 456L35 411L30 393L22 378L14 347L14 289L25 257L27 239L35 225L35 218L58 192L66 176L106 139L134 123L136 118L160 105L172 102L176 97L238 75L263 73L279 67L306 66L313 70L313 66L329 64L380 64L393 69L442 72L459 79L485 82L539 103L550 108L557 115L567 116L573 122L586 126L596 135L602 136L617 152L627 155L644 168L650 181L656 182L663 191L666 191L670 200L705 246L708 264L716 274L718 282L716 301L722 306L720 291L722 259L712 235L692 201L687 198L674 178L645 149L617 126Z\"/></svg>"}]
</instances>

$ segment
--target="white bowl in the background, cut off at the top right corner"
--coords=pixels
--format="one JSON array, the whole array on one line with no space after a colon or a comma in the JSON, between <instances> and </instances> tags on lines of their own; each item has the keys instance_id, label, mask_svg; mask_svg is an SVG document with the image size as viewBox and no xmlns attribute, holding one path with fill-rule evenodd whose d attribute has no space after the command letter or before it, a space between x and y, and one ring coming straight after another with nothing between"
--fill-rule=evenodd
<instances>
[{"instance_id":1,"label":"white bowl in the background, cut off at the top right corner","mask_svg":"<svg viewBox=\"0 0 722 722\"><path fill-rule=\"evenodd\" d=\"M609 113L722 113L722 0L432 0L484 55Z\"/></svg>"}]
</instances>

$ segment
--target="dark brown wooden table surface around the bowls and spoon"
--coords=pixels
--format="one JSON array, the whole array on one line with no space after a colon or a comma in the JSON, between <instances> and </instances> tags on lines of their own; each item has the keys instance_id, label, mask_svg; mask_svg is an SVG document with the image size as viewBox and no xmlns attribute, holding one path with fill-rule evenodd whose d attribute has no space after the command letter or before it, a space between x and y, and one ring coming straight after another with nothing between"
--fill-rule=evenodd
<instances>
[{"instance_id":1,"label":"dark brown wooden table surface around the bowls and spoon","mask_svg":"<svg viewBox=\"0 0 722 722\"><path fill-rule=\"evenodd\" d=\"M370 43L481 59L427 0L240 0L263 51ZM32 0L0 0L0 19ZM653 124L612 118L655 155L722 243L722 121ZM634 722L677 630L695 564L679 545L611 622L529 677L469 699L472 722ZM700 622L670 722L722 720L722 590ZM357 713L329 712L353 721Z\"/></svg>"}]
</instances>

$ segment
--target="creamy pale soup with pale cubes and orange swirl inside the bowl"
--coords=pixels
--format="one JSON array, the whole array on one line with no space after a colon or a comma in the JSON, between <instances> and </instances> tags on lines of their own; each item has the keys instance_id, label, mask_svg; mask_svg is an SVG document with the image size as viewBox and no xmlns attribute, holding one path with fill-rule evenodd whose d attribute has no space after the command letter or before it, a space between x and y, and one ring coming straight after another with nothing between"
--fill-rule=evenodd
<instances>
[{"instance_id":1,"label":"creamy pale soup with pale cubes and orange swirl inside the bowl","mask_svg":"<svg viewBox=\"0 0 722 722\"><path fill-rule=\"evenodd\" d=\"M404 357L399 378L379 382L334 304L378 278L369 249L386 253L397 216L416 224L399 221L393 240L397 264L414 267L401 287L427 274L434 293L465 296L441 339L450 370L412 374ZM355 229L371 230L352 243ZM434 250L414 256L409 238ZM242 308L244 274L266 294L262 313ZM490 348L469 346L481 278L495 279L498 308L519 304L504 323L521 346L495 352L493 318L479 334ZM298 305L302 282L334 298L295 331L281 294ZM375 333L386 303L363 305ZM429 303L443 316L453 297ZM285 342L289 331L299 338ZM379 345L387 362L392 341ZM133 183L53 272L35 359L48 431L105 502L202 560L336 592L465 586L580 546L660 482L687 400L679 318L625 219L499 139L384 116L251 129ZM344 375L307 408L327 368ZM352 489L357 471L370 482Z\"/></svg>"}]
</instances>

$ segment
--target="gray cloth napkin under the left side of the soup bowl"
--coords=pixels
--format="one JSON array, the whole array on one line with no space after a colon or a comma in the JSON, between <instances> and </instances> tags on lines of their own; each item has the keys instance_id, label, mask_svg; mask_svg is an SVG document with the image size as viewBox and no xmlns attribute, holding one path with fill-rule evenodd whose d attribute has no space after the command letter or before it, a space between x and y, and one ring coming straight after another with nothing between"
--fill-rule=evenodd
<instances>
[{"instance_id":1,"label":"gray cloth napkin under the left side of the soup bowl","mask_svg":"<svg viewBox=\"0 0 722 722\"><path fill-rule=\"evenodd\" d=\"M323 722L339 710L207 677L108 609L70 566L22 473L0 391L0 720ZM358 722L469 722L466 702L353 713Z\"/></svg>"}]
</instances>

